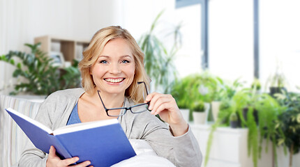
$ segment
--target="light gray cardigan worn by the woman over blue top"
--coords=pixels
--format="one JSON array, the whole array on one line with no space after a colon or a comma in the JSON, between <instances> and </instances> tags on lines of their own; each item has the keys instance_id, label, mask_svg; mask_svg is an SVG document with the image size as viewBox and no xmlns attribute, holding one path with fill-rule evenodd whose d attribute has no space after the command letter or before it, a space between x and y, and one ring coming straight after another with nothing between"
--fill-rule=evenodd
<instances>
[{"instance_id":1,"label":"light gray cardigan worn by the woman over blue top","mask_svg":"<svg viewBox=\"0 0 300 167\"><path fill-rule=\"evenodd\" d=\"M40 106L36 120L52 130L66 126L70 113L83 93L82 88L52 93ZM133 102L126 98L124 106L132 105ZM190 128L186 134L174 137L168 127L149 112L133 114L127 111L119 118L119 122L129 139L144 139L158 156L169 159L175 166L201 166L202 154ZM19 166L46 166L46 161L47 154L29 142Z\"/></svg>"}]
</instances>

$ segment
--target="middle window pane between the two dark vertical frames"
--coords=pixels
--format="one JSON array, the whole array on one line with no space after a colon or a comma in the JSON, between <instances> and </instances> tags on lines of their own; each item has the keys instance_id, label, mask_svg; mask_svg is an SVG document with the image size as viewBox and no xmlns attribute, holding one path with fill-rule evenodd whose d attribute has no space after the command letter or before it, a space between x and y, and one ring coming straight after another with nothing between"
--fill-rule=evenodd
<instances>
[{"instance_id":1,"label":"middle window pane between the two dark vertical frames","mask_svg":"<svg viewBox=\"0 0 300 167\"><path fill-rule=\"evenodd\" d=\"M209 1L208 41L213 74L230 81L253 81L253 1Z\"/></svg>"}]
</instances>

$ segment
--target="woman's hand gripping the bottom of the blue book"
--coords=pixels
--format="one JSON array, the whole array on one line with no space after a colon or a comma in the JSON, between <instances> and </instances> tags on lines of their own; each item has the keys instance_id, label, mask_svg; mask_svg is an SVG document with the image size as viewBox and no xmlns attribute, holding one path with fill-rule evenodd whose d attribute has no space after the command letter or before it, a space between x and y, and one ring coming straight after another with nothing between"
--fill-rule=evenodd
<instances>
[{"instance_id":1,"label":"woman's hand gripping the bottom of the blue book","mask_svg":"<svg viewBox=\"0 0 300 167\"><path fill-rule=\"evenodd\" d=\"M46 162L46 166L47 167L52 167L52 166L69 166L70 164L74 164L75 162L77 162L79 160L78 157L73 157L70 159L63 159L61 160L57 154L55 154L56 150L54 148L53 145L51 145L50 150L49 150L49 155L48 155L48 159ZM90 161L84 161L80 164L76 164L74 167L82 167L82 166L88 166L89 164L91 164Z\"/></svg>"}]
</instances>

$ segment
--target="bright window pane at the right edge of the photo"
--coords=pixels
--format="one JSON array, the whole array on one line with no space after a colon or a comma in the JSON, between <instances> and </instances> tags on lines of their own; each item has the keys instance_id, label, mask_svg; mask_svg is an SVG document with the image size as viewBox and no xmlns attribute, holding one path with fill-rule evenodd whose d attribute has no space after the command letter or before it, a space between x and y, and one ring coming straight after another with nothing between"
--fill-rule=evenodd
<instances>
[{"instance_id":1,"label":"bright window pane at the right edge of the photo","mask_svg":"<svg viewBox=\"0 0 300 167\"><path fill-rule=\"evenodd\" d=\"M260 1L260 79L266 83L279 65L290 91L300 86L299 6L297 0Z\"/></svg>"}]
</instances>

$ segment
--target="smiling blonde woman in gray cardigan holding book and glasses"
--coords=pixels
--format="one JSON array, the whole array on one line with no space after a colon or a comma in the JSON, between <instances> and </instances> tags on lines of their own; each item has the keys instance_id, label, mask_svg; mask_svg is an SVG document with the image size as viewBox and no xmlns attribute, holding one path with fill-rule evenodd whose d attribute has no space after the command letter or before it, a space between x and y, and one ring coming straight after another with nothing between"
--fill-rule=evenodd
<instances>
[{"instance_id":1,"label":"smiling blonde woman in gray cardigan holding book and glasses","mask_svg":"<svg viewBox=\"0 0 300 167\"><path fill-rule=\"evenodd\" d=\"M147 142L166 161L175 166L201 166L200 147L172 95L148 95L144 54L126 29L100 29L83 56L79 66L84 89L52 93L40 106L38 122L57 129L72 122L117 119L129 139ZM61 160L55 151L51 147L46 156L29 143L19 166L68 166L78 161L78 157ZM83 161L76 166L90 164Z\"/></svg>"}]
</instances>

